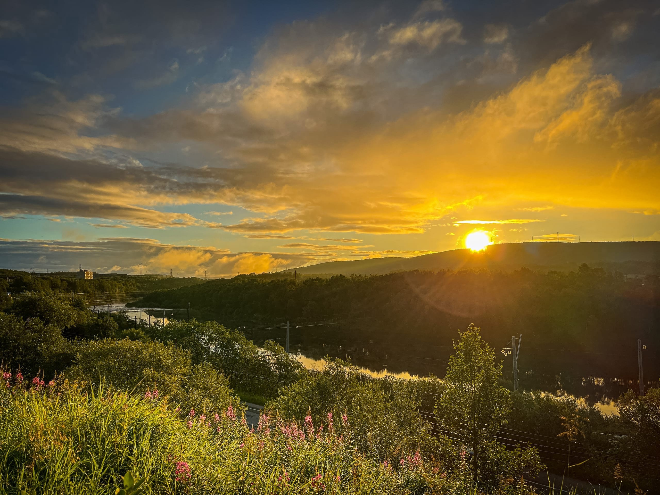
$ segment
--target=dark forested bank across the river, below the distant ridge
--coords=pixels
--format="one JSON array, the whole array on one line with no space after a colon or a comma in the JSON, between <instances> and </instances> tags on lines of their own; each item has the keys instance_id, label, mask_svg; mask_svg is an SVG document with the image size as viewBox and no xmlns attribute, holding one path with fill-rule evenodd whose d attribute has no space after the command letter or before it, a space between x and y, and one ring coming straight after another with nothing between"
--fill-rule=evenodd
<instances>
[{"instance_id":1,"label":"dark forested bank across the river, below the distant ridge","mask_svg":"<svg viewBox=\"0 0 660 495\"><path fill-rule=\"evenodd\" d=\"M242 327L255 338L255 328L288 319L301 325L292 331L293 342L294 335L314 336L317 347L331 347L331 339L343 348L360 341L387 346L389 357L411 354L411 346L418 346L414 354L429 355L430 346L451 345L457 329L475 323L494 347L523 334L520 364L535 375L564 366L575 370L568 376L634 378L637 339L649 349L647 366L657 361L659 288L655 275L631 279L581 265L568 273L407 271L302 282L243 276L157 292L140 304L185 308L190 302L197 317ZM350 321L356 317L368 319ZM302 327L310 319L347 323ZM649 368L648 376L657 376L656 370Z\"/></svg>"}]
</instances>

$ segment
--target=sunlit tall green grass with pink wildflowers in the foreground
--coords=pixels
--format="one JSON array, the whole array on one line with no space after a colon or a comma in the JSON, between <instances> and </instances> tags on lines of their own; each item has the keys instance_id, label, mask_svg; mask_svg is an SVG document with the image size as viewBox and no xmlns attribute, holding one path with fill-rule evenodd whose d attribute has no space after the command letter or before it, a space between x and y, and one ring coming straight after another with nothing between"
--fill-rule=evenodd
<instances>
[{"instance_id":1,"label":"sunlit tall green grass with pink wildflowers in the foreground","mask_svg":"<svg viewBox=\"0 0 660 495\"><path fill-rule=\"evenodd\" d=\"M249 429L232 407L180 411L157 391L0 380L0 493L112 493L131 471L151 494L474 494L467 465L448 475L419 453L395 465L358 452L345 416L323 428L262 416ZM317 423L318 424L318 423ZM515 488L514 488L515 487ZM527 494L510 480L496 490Z\"/></svg>"}]
</instances>

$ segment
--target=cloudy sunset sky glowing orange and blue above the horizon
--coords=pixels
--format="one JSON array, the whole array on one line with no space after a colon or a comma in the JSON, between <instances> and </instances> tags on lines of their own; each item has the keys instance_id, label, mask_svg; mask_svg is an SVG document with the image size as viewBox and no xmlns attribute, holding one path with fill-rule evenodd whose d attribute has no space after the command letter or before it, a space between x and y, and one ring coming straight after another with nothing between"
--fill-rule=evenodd
<instances>
[{"instance_id":1,"label":"cloudy sunset sky glowing orange and blue above the horizon","mask_svg":"<svg viewBox=\"0 0 660 495\"><path fill-rule=\"evenodd\" d=\"M0 106L2 268L660 240L657 1L9 0Z\"/></svg>"}]
</instances>

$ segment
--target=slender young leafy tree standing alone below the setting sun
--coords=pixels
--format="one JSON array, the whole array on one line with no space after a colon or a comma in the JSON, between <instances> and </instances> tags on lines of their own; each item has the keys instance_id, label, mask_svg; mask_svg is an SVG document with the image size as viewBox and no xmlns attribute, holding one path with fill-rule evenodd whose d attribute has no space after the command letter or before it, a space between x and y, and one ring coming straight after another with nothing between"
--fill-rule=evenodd
<instances>
[{"instance_id":1,"label":"slender young leafy tree standing alone below the setting sun","mask_svg":"<svg viewBox=\"0 0 660 495\"><path fill-rule=\"evenodd\" d=\"M446 430L461 432L472 447L475 480L486 461L482 446L492 442L500 426L506 424L511 404L509 391L498 382L502 362L496 364L493 349L479 331L470 325L455 341L447 367L447 390L436 405L438 422Z\"/></svg>"}]
</instances>

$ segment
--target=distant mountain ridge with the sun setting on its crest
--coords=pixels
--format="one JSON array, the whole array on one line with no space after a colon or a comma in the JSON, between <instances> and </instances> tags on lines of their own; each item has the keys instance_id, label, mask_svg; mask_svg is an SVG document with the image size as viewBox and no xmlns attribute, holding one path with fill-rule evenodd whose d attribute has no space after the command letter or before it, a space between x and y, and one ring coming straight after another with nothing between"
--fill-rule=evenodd
<instances>
[{"instance_id":1,"label":"distant mountain ridge with the sun setting on its crest","mask_svg":"<svg viewBox=\"0 0 660 495\"><path fill-rule=\"evenodd\" d=\"M488 268L502 271L522 267L569 271L581 263L626 275L660 275L660 242L523 242L493 244L474 253L453 249L411 258L391 257L356 261L329 261L298 268L302 274L381 275L404 270L461 270ZM286 270L292 272L293 269Z\"/></svg>"}]
</instances>

